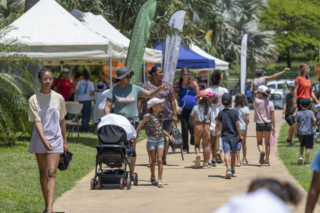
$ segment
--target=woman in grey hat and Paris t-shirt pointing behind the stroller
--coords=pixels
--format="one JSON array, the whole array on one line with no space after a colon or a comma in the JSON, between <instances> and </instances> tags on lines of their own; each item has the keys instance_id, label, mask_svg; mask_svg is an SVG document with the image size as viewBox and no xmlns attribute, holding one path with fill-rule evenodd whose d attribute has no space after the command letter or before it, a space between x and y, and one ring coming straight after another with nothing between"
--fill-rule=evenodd
<instances>
[{"instance_id":1,"label":"woman in grey hat and Paris t-shirt pointing behind the stroller","mask_svg":"<svg viewBox=\"0 0 320 213\"><path fill-rule=\"evenodd\" d=\"M114 113L122 115L124 117L132 117L135 119L134 128L137 129L139 126L138 108L137 101L138 97L152 98L158 95L161 90L167 89L170 84L163 84L152 91L148 91L137 85L130 84L130 80L134 75L133 71L129 71L126 67L121 67L116 71L117 78L116 82L119 84L112 87L107 95L107 102L104 107L106 115L110 113L112 104L115 105ZM133 121L132 121L133 125ZM136 149L137 139L133 139L133 147ZM134 167L136 164L136 157L132 157L131 169L132 174L134 173Z\"/></svg>"}]
</instances>

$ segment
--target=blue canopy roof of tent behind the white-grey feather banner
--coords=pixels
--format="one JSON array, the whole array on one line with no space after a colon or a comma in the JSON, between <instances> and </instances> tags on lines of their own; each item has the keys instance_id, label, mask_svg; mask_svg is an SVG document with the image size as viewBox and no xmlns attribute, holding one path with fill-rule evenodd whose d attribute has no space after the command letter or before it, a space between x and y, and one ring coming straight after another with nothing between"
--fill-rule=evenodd
<instances>
[{"instance_id":1,"label":"blue canopy roof of tent behind the white-grey feather banner","mask_svg":"<svg viewBox=\"0 0 320 213\"><path fill-rule=\"evenodd\" d=\"M155 49L164 52L164 43L158 44ZM201 56L191 48L187 49L185 46L180 45L177 69L182 67L188 67L189 69L215 68L215 63L213 59Z\"/></svg>"}]
</instances>

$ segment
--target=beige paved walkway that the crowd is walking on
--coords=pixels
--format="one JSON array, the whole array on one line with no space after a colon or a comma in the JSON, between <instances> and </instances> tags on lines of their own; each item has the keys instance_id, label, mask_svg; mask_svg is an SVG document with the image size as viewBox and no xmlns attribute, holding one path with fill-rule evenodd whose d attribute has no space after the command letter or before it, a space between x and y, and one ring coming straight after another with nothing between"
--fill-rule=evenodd
<instances>
[{"instance_id":1,"label":"beige paved walkway that the crowd is walking on","mask_svg":"<svg viewBox=\"0 0 320 213\"><path fill-rule=\"evenodd\" d=\"M105 187L101 190L90 189L90 179L94 177L94 170L70 191L64 193L54 203L56 212L213 212L230 195L247 191L250 182L256 178L273 177L289 181L297 186L301 192L301 202L293 212L304 212L307 193L298 182L293 179L281 160L276 155L276 146L271 148L270 167L259 164L259 153L255 137L255 124L251 110L250 124L247 136L248 165L236 167L238 177L224 179L225 164L217 167L200 169L194 166L195 154L184 155L181 160L180 152L167 157L169 165L164 166L164 188L150 185L150 170L147 168L148 155L146 141L137 144L138 158L135 171L139 176L138 186L130 190L119 190L118 185ZM276 110L276 136L279 135L282 111ZM194 150L193 146L190 151ZM171 149L170 149L171 151ZM170 153L170 152L169 152ZM242 154L241 154L242 157ZM203 157L201 156L202 160ZM94 156L92 156L94 159ZM157 167L156 167L157 171ZM157 172L156 172L157 176ZM263 201L262 201L263 202ZM320 212L317 205L315 212Z\"/></svg>"}]
</instances>

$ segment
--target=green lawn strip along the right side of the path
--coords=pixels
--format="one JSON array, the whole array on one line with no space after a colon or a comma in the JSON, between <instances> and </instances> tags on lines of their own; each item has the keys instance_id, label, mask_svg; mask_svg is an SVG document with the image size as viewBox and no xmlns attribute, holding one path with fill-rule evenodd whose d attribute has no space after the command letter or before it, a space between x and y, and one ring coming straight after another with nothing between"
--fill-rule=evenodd
<instances>
[{"instance_id":1,"label":"green lawn strip along the right side of the path","mask_svg":"<svg viewBox=\"0 0 320 213\"><path fill-rule=\"evenodd\" d=\"M313 170L309 166L297 164L299 158L299 140L297 138L293 139L293 142L295 142L298 146L288 147L285 143L288 136L288 129L289 125L286 123L281 126L280 135L278 138L278 155L283 161L285 167L287 167L287 169L289 170L289 173L296 180L298 180L299 184L306 190L306 192L308 192L311 184ZM314 149L311 149L310 151L310 164L312 163L313 157L315 156L319 145L319 143L315 142ZM305 151L303 153L303 158L305 158ZM318 199L318 203L320 204L320 198Z\"/></svg>"}]
</instances>

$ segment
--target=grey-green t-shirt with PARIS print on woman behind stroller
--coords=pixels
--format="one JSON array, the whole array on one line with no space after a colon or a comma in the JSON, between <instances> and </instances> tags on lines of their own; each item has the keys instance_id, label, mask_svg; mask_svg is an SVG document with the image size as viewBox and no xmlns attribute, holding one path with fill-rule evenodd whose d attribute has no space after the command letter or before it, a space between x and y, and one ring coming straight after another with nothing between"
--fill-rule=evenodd
<instances>
[{"instance_id":1,"label":"grey-green t-shirt with PARIS print on woman behind stroller","mask_svg":"<svg viewBox=\"0 0 320 213\"><path fill-rule=\"evenodd\" d=\"M112 87L107 94L107 98L113 100L115 104L114 113L122 115L126 118L134 118L136 122L139 121L137 101L143 91L142 87L129 84L122 88L119 85Z\"/></svg>"}]
</instances>

